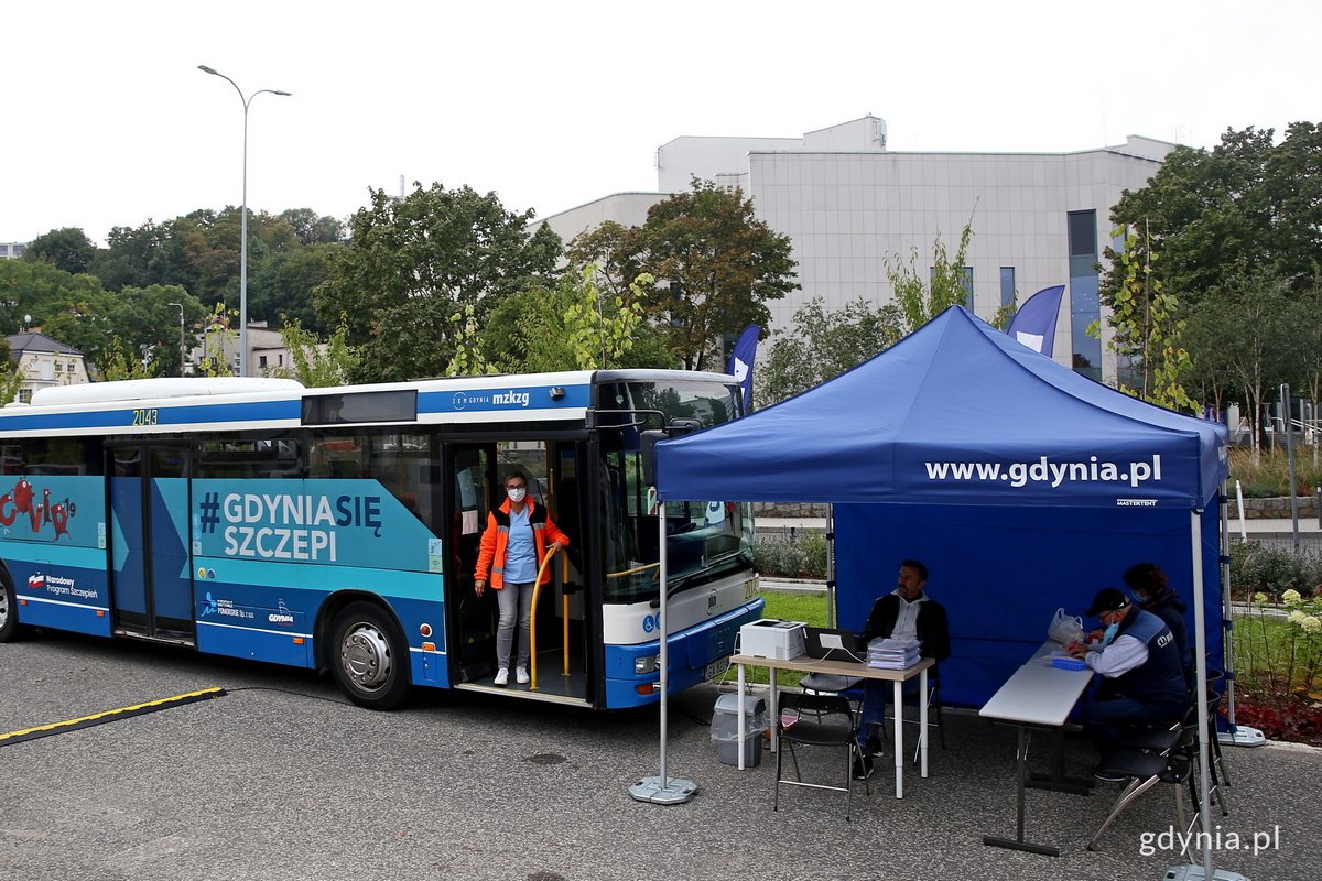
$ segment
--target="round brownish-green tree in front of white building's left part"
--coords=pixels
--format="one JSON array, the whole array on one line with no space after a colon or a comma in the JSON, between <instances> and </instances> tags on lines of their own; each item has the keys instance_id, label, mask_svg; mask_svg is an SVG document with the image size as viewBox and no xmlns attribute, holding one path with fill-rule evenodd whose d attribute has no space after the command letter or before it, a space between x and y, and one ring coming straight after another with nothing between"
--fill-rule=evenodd
<instances>
[{"instance_id":1,"label":"round brownish-green tree in front of white building's left part","mask_svg":"<svg viewBox=\"0 0 1322 881\"><path fill-rule=\"evenodd\" d=\"M689 370L723 369L723 337L767 325L765 304L798 288L789 236L756 219L743 190L711 181L694 178L693 192L653 205L637 248L639 265L660 280L644 306Z\"/></svg>"}]
</instances>

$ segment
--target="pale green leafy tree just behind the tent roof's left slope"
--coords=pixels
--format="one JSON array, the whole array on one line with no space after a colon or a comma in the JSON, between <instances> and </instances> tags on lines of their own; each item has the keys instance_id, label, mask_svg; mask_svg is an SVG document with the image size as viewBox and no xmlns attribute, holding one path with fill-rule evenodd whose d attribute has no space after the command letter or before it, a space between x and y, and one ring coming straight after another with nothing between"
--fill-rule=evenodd
<instances>
[{"instance_id":1,"label":"pale green leafy tree just behind the tent roof's left slope","mask_svg":"<svg viewBox=\"0 0 1322 881\"><path fill-rule=\"evenodd\" d=\"M863 297L826 309L813 297L795 312L793 326L777 330L771 351L754 370L759 407L804 392L891 347L904 335L894 304L874 309Z\"/></svg>"}]
</instances>

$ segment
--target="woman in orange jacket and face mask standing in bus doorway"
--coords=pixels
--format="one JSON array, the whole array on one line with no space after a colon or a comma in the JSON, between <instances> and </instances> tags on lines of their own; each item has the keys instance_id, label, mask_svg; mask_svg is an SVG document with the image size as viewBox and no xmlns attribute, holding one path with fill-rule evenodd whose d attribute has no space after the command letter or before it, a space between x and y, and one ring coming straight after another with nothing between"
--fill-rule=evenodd
<instances>
[{"instance_id":1,"label":"woman in orange jacket and face mask standing in bus doorway","mask_svg":"<svg viewBox=\"0 0 1322 881\"><path fill-rule=\"evenodd\" d=\"M473 592L483 596L488 575L500 605L500 625L496 629L496 684L509 684L509 655L518 623L518 666L514 678L526 684L527 676L527 619L533 608L533 589L537 571L547 553L568 547L570 538L561 532L546 511L527 498L527 477L514 472L505 478L505 503L486 515L477 551L477 569L473 573ZM547 544L550 542L550 544ZM551 580L542 573L542 584Z\"/></svg>"}]
</instances>

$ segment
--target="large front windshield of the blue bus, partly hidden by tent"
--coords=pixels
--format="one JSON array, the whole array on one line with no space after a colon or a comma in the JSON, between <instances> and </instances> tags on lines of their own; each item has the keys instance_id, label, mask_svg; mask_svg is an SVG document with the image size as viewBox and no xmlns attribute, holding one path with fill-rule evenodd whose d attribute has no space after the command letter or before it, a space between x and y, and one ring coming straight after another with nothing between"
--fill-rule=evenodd
<instances>
[{"instance_id":1,"label":"large front windshield of the blue bus, partly hidden by tent","mask_svg":"<svg viewBox=\"0 0 1322 881\"><path fill-rule=\"evenodd\" d=\"M602 487L608 495L602 520L605 602L654 598L660 584L660 524L649 512L639 433L672 419L697 419L703 428L739 413L739 390L713 382L629 382L602 388L603 409L620 429L602 433ZM746 502L666 502L666 580L672 592L695 588L748 569L752 515Z\"/></svg>"}]
</instances>

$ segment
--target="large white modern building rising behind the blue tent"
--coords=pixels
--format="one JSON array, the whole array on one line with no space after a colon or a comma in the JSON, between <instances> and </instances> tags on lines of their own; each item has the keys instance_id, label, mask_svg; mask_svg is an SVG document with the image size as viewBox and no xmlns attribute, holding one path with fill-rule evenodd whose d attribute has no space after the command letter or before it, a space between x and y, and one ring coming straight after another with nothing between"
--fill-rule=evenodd
<instances>
[{"instance_id":1,"label":"large white modern building rising behind the blue tent","mask_svg":"<svg viewBox=\"0 0 1322 881\"><path fill-rule=\"evenodd\" d=\"M802 137L677 137L657 149L658 193L620 193L545 219L566 242L605 219L640 226L646 210L690 180L739 186L758 217L793 242L802 285L769 304L789 328L812 297L839 308L880 305L892 292L887 260L931 268L940 236L953 256L972 222L965 275L977 314L990 318L1015 295L1066 284L1055 358L1093 378L1114 375L1113 355L1084 328L1099 317L1096 264L1110 209L1140 189L1174 144L1130 136L1076 153L895 153L886 122L865 116Z\"/></svg>"}]
</instances>

